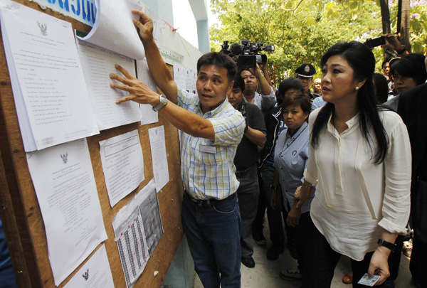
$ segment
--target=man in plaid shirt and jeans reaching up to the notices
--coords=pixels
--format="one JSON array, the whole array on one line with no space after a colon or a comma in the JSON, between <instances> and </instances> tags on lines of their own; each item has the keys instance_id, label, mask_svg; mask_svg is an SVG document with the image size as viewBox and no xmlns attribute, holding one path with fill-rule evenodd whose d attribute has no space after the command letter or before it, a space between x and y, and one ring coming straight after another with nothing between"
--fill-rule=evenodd
<instances>
[{"instance_id":1,"label":"man in plaid shirt and jeans reaching up to the notices","mask_svg":"<svg viewBox=\"0 0 427 288\"><path fill-rule=\"evenodd\" d=\"M129 92L117 104L135 101L180 129L181 176L184 183L182 223L204 287L241 286L241 216L236 191L239 186L233 164L246 122L227 100L233 88L236 64L228 55L206 53L197 62L198 95L179 90L154 42L152 19L141 11L134 19L144 44L150 73L164 92L159 95L125 69L125 77L111 74L116 89Z\"/></svg>"}]
</instances>

